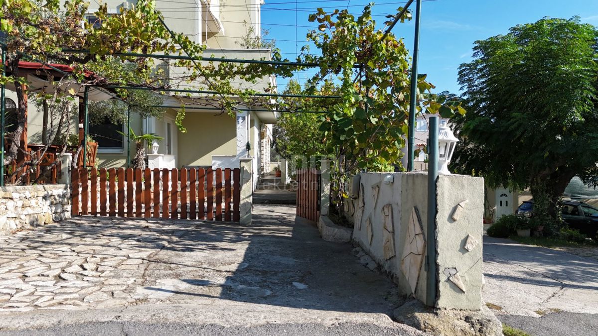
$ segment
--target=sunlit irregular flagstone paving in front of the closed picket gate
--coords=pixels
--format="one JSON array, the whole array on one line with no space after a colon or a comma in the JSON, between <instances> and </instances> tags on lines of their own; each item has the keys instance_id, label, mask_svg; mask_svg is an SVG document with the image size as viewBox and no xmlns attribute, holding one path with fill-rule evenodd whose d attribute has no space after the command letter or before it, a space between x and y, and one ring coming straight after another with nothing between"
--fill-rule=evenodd
<instances>
[{"instance_id":1,"label":"sunlit irregular flagstone paving in front of the closed picket gate","mask_svg":"<svg viewBox=\"0 0 598 336\"><path fill-rule=\"evenodd\" d=\"M181 228L88 217L0 237L0 312L135 303L148 257Z\"/></svg>"}]
</instances>

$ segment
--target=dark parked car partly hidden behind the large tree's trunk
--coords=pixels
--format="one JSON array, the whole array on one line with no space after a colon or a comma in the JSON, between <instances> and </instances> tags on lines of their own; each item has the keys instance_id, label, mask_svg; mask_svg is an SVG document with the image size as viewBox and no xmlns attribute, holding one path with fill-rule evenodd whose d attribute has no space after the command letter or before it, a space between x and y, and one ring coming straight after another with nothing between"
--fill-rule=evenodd
<instances>
[{"instance_id":1,"label":"dark parked car partly hidden behind the large tree's trunk","mask_svg":"<svg viewBox=\"0 0 598 336\"><path fill-rule=\"evenodd\" d=\"M588 237L598 238L598 209L581 201L561 201L561 215L568 227L579 230ZM531 217L533 200L524 201L517 208L517 215Z\"/></svg>"}]
</instances>

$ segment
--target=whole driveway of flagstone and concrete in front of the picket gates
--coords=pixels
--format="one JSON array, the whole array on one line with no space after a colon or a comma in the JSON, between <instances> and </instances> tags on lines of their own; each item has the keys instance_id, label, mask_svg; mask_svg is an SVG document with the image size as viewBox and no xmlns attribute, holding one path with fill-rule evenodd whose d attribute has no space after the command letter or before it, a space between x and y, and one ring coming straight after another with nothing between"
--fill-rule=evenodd
<instances>
[{"instance_id":1,"label":"whole driveway of flagstone and concrete in front of the picket gates","mask_svg":"<svg viewBox=\"0 0 598 336\"><path fill-rule=\"evenodd\" d=\"M80 217L2 238L0 330L418 333L390 320L395 286L351 245L324 242L292 206L254 213L250 227Z\"/></svg>"}]
</instances>

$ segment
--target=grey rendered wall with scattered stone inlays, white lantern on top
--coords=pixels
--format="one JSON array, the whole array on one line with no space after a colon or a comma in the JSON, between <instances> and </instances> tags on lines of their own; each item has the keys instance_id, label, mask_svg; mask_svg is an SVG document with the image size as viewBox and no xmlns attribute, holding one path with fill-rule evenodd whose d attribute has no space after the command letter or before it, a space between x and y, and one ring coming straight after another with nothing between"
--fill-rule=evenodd
<instances>
[{"instance_id":1,"label":"grey rendered wall with scattered stone inlays, white lantern on top","mask_svg":"<svg viewBox=\"0 0 598 336\"><path fill-rule=\"evenodd\" d=\"M348 209L353 240L392 274L402 294L426 301L428 174L361 173ZM437 182L439 308L479 310L484 182L441 175Z\"/></svg>"}]
</instances>

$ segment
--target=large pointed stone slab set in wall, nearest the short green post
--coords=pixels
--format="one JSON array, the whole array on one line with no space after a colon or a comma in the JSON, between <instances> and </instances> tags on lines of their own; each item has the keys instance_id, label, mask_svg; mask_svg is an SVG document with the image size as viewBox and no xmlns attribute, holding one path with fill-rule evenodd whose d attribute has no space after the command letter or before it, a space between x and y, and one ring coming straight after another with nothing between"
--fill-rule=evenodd
<instances>
[{"instance_id":1,"label":"large pointed stone slab set in wall, nearest the short green post","mask_svg":"<svg viewBox=\"0 0 598 336\"><path fill-rule=\"evenodd\" d=\"M414 206L411 209L407 226L407 239L405 239L405 246L401 255L401 271L407 278L412 293L415 293L417 289L425 253L426 239L423 234L422 219L419 216L419 210Z\"/></svg>"}]
</instances>

